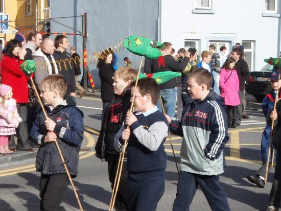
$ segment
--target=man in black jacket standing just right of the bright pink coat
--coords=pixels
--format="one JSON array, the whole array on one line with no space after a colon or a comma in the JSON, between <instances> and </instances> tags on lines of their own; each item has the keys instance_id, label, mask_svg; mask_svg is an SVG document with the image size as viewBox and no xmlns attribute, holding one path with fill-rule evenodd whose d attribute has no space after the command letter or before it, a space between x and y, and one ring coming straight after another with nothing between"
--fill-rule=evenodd
<instances>
[{"instance_id":1,"label":"man in black jacket standing just right of the bright pink coat","mask_svg":"<svg viewBox=\"0 0 281 211\"><path fill-rule=\"evenodd\" d=\"M239 116L243 119L249 119L250 115L246 114L246 97L245 97L245 82L250 78L250 72L248 64L245 60L243 60L243 51L240 48L235 48L232 50L231 57L235 59L236 64L234 68L237 71L239 77L239 98L240 105L238 106ZM233 126L239 126L241 123L241 119L239 122L233 123Z\"/></svg>"}]
</instances>

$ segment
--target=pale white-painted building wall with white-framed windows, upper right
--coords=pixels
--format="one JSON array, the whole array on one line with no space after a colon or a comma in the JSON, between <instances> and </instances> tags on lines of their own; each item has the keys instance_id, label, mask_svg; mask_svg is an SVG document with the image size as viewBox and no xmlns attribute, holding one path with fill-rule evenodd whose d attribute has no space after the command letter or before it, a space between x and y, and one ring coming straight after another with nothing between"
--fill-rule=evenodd
<instances>
[{"instance_id":1,"label":"pale white-painted building wall with white-framed windows, upper right","mask_svg":"<svg viewBox=\"0 0 281 211\"><path fill-rule=\"evenodd\" d=\"M263 17L264 0L212 2L214 14L202 14L193 13L194 0L162 0L161 41L172 42L177 51L184 48L185 39L197 39L198 53L208 50L209 40L225 40L228 49L242 40L254 41L251 71L261 69L264 58L279 56L280 18Z\"/></svg>"}]
</instances>

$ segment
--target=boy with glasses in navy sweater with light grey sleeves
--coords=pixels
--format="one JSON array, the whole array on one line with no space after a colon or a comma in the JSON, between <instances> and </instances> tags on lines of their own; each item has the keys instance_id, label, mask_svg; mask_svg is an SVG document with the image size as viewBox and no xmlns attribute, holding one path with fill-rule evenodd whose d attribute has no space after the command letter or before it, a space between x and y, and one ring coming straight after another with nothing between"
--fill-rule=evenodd
<instances>
[{"instance_id":1,"label":"boy with glasses in navy sweater with light grey sleeves","mask_svg":"<svg viewBox=\"0 0 281 211\"><path fill-rule=\"evenodd\" d=\"M132 83L132 95L135 90ZM129 210L153 211L165 190L167 155L163 146L168 123L157 109L160 96L154 79L139 79L135 90L134 114L127 113L125 124L114 138L114 147L123 151L128 140L128 204ZM129 126L129 129L125 127Z\"/></svg>"}]
</instances>

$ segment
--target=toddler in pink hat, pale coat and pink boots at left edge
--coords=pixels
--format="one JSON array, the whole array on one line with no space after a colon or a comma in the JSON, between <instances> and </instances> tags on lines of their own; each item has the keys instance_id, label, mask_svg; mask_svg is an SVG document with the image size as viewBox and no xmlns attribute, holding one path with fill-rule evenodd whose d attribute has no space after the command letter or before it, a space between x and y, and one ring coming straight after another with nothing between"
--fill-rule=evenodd
<instances>
[{"instance_id":1,"label":"toddler in pink hat, pale coat and pink boots at left edge","mask_svg":"<svg viewBox=\"0 0 281 211\"><path fill-rule=\"evenodd\" d=\"M0 154L10 154L8 137L15 134L15 128L21 122L16 109L16 101L12 99L12 87L6 84L0 86Z\"/></svg>"}]
</instances>

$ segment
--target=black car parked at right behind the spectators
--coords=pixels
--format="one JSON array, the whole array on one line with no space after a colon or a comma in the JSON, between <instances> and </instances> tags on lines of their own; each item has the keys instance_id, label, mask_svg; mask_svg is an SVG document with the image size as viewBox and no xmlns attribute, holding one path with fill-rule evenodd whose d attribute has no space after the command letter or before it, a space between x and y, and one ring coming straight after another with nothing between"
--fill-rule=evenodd
<instances>
[{"instance_id":1,"label":"black car parked at right behind the spectators","mask_svg":"<svg viewBox=\"0 0 281 211\"><path fill-rule=\"evenodd\" d=\"M249 95L255 97L257 101L262 101L272 89L269 78L273 70L274 66L267 64L261 71L250 72L250 78L246 81L245 90Z\"/></svg>"}]
</instances>

